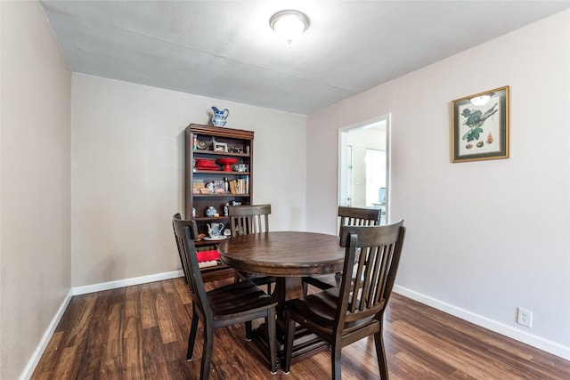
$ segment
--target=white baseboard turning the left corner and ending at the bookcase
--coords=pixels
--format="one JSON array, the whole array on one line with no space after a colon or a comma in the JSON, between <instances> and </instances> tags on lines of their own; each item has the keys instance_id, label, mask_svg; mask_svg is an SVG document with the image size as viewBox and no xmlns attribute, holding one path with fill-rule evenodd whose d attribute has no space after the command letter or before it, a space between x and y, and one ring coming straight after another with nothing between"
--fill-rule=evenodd
<instances>
[{"instance_id":1,"label":"white baseboard turning the left corner and ending at the bookcase","mask_svg":"<svg viewBox=\"0 0 570 380\"><path fill-rule=\"evenodd\" d=\"M118 287L129 287L131 285L146 284L148 282L161 281L163 279L175 279L178 277L183 277L183 271L168 271L166 273L151 274L149 276L136 277L134 279L119 279L118 281L103 282L101 284L87 285L85 287L72 287L69 290L68 295L65 297L61 303L60 308L53 316L52 322L49 324L45 330L44 336L37 344L36 351L32 354L32 357L28 360L26 368L22 371L20 375L20 380L28 380L36 369L37 363L41 359L45 352L45 347L49 343L53 336L55 328L60 323L63 313L68 307L69 301L73 295L85 295L87 293L101 292L102 290L116 289Z\"/></svg>"}]
</instances>

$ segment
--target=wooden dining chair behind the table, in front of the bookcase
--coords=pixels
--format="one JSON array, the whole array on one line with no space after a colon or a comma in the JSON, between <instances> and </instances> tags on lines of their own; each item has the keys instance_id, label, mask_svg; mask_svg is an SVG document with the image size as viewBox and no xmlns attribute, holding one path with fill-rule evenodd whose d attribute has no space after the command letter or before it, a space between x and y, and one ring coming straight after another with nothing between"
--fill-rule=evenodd
<instances>
[{"instance_id":1,"label":"wooden dining chair behind the table, in front of the bookcase","mask_svg":"<svg viewBox=\"0 0 570 380\"><path fill-rule=\"evenodd\" d=\"M228 206L232 237L269 232L269 214L271 214L271 205ZM257 285L266 284L268 292L271 292L271 284L276 280L272 276L256 276L252 273L236 271L235 280L241 279L251 279Z\"/></svg>"}]
</instances>

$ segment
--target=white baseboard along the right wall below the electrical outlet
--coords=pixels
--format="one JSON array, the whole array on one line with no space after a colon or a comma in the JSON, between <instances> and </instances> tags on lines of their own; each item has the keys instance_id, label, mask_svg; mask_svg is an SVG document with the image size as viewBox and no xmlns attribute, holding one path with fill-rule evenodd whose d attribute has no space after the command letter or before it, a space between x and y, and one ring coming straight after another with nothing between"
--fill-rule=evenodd
<instances>
[{"instance_id":1,"label":"white baseboard along the right wall below the electrical outlet","mask_svg":"<svg viewBox=\"0 0 570 380\"><path fill-rule=\"evenodd\" d=\"M418 301L419 303L425 303L428 306L436 308L452 314L460 319L465 319L468 322L474 323L477 326L485 327L488 330L494 331L495 333L501 334L501 336L508 336L509 338L515 339L518 342L528 344L542 350L544 352L549 352L556 355L562 359L570 360L570 347L565 345L552 342L548 339L544 339L540 336L535 336L529 334L525 331L518 330L515 327L505 325L501 322L497 322L493 319L488 319L474 312L461 309L451 303L444 303L443 301L437 300L436 298L429 297L428 295L423 295L406 287L394 286L394 292L399 295L405 295L412 300Z\"/></svg>"}]
</instances>

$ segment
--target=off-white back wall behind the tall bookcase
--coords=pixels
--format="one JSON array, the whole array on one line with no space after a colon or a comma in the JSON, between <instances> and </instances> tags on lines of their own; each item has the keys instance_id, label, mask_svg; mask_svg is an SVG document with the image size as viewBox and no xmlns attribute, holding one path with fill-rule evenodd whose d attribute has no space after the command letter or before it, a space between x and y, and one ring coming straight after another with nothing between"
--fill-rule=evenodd
<instances>
[{"instance_id":1,"label":"off-white back wall behind the tall bookcase","mask_svg":"<svg viewBox=\"0 0 570 380\"><path fill-rule=\"evenodd\" d=\"M183 131L211 106L255 132L253 201L272 204L272 230L305 229L305 116L75 73L72 93L74 287L181 268Z\"/></svg>"}]
</instances>

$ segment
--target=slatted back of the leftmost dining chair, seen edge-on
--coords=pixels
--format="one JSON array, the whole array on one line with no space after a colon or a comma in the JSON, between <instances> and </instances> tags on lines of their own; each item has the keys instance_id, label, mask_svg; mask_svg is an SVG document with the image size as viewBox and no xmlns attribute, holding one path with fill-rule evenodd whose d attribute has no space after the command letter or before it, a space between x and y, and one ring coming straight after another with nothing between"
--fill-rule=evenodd
<instances>
[{"instance_id":1,"label":"slatted back of the leftmost dining chair, seen edge-on","mask_svg":"<svg viewBox=\"0 0 570 380\"><path fill-rule=\"evenodd\" d=\"M172 224L175 230L178 254L182 261L186 282L190 288L192 307L197 308L203 317L211 316L212 311L208 303L202 273L199 271L196 246L194 245L194 240L198 238L196 222L182 220L180 214L175 214L172 218Z\"/></svg>"}]
</instances>

